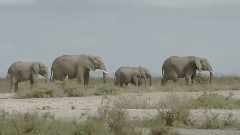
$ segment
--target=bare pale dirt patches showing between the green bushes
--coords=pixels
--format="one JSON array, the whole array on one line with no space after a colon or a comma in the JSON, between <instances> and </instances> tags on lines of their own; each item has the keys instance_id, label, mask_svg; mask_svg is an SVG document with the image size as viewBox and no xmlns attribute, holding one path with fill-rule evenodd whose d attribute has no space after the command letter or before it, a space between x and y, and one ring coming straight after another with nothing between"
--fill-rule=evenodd
<instances>
[{"instance_id":1,"label":"bare pale dirt patches showing between the green bushes","mask_svg":"<svg viewBox=\"0 0 240 135\"><path fill-rule=\"evenodd\" d=\"M224 96L233 93L234 98L240 99L240 91L215 91ZM184 97L197 97L202 92L156 92L156 93L131 93L120 96L110 96L104 98L102 96L91 97L63 97L63 98L31 98L31 99L13 99L13 94L0 94L0 110L5 110L9 113L50 113L56 119L67 121L83 121L88 116L96 115L98 108L108 100L114 100L119 97L138 97L149 100L151 103L157 103L168 97L169 94L176 94ZM157 115L155 109L127 109L129 119L151 119ZM240 110L220 110L211 109L208 113L219 113L222 119L229 113L233 114L233 118L240 121ZM204 110L191 110L190 119L192 122L200 124L204 119ZM183 135L240 135L240 130L206 130L206 129L174 129ZM147 132L146 132L147 134Z\"/></svg>"}]
</instances>

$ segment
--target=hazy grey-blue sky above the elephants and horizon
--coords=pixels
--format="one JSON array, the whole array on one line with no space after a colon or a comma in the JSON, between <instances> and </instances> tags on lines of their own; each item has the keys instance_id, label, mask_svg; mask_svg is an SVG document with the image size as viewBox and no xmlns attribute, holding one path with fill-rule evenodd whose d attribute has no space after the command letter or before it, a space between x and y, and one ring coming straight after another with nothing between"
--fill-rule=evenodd
<instances>
[{"instance_id":1,"label":"hazy grey-blue sky above the elephants and horizon","mask_svg":"<svg viewBox=\"0 0 240 135\"><path fill-rule=\"evenodd\" d=\"M107 70L161 74L170 56L207 58L240 75L239 0L0 0L0 73L15 61L49 69L64 54L101 56Z\"/></svg>"}]
</instances>

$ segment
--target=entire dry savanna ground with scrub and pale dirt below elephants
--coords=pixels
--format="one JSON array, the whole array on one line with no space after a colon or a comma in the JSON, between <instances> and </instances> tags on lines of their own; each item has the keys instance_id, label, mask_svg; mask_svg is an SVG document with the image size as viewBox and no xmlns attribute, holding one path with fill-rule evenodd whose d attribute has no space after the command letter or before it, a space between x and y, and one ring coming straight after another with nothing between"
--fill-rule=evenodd
<instances>
[{"instance_id":1,"label":"entire dry savanna ground with scrub and pale dirt below elephants","mask_svg":"<svg viewBox=\"0 0 240 135\"><path fill-rule=\"evenodd\" d=\"M240 135L240 77L198 75L197 85L119 88L113 79L76 80L35 86L20 83L8 93L0 79L0 134L39 135Z\"/></svg>"}]
</instances>

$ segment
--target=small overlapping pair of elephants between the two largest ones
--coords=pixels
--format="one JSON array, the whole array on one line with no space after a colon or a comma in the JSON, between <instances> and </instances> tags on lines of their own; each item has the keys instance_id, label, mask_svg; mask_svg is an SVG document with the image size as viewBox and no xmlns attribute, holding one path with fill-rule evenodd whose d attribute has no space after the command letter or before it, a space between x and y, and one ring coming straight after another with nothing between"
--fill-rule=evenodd
<instances>
[{"instance_id":1,"label":"small overlapping pair of elephants between the two largest ones","mask_svg":"<svg viewBox=\"0 0 240 135\"><path fill-rule=\"evenodd\" d=\"M139 67L120 67L115 72L115 85L123 87L123 84L126 86L128 83L131 83L135 86L142 85L142 79L150 79L150 86L152 83L152 78L150 72L141 66Z\"/></svg>"}]
</instances>

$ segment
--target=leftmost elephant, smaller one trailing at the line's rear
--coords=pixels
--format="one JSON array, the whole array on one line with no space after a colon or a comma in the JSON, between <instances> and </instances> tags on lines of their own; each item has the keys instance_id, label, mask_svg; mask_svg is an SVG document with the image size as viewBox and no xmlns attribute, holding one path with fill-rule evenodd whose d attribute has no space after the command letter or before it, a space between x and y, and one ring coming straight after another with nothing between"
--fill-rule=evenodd
<instances>
[{"instance_id":1,"label":"leftmost elephant, smaller one trailing at the line's rear","mask_svg":"<svg viewBox=\"0 0 240 135\"><path fill-rule=\"evenodd\" d=\"M46 65L40 62L14 62L8 68L8 76L10 78L10 92L18 92L18 83L30 80L30 84L33 85L38 81L38 74L45 78L47 82L48 68Z\"/></svg>"}]
</instances>

